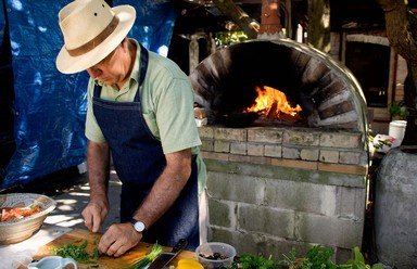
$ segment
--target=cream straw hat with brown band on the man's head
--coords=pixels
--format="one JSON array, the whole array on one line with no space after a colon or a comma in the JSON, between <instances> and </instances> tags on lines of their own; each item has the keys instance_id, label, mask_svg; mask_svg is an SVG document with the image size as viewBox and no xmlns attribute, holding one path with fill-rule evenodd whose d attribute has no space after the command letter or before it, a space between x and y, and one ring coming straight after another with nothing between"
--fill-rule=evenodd
<instances>
[{"instance_id":1,"label":"cream straw hat with brown band on the man's head","mask_svg":"<svg viewBox=\"0 0 417 269\"><path fill-rule=\"evenodd\" d=\"M59 13L65 44L56 57L64 74L85 71L109 55L135 23L130 5L110 8L104 0L75 0Z\"/></svg>"}]
</instances>

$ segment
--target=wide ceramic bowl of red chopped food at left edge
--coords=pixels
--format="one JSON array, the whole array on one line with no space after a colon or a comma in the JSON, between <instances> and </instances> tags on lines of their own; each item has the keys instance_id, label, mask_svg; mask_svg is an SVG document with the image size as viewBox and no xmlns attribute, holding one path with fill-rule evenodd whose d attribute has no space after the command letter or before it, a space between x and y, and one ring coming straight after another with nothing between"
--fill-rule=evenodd
<instances>
[{"instance_id":1,"label":"wide ceramic bowl of red chopped food at left edge","mask_svg":"<svg viewBox=\"0 0 417 269\"><path fill-rule=\"evenodd\" d=\"M56 207L52 198L36 193L10 193L0 195L0 213L2 208L28 207L33 204L39 205L42 210L34 215L0 221L0 244L13 244L24 241L41 228L48 214Z\"/></svg>"}]
</instances>

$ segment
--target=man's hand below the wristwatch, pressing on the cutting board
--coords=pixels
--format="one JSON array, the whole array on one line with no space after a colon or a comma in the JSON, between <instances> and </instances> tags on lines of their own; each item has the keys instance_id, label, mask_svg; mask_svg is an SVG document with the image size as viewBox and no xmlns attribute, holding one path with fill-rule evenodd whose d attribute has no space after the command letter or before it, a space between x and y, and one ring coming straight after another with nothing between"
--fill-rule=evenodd
<instances>
[{"instance_id":1,"label":"man's hand below the wristwatch, pressing on the cutting board","mask_svg":"<svg viewBox=\"0 0 417 269\"><path fill-rule=\"evenodd\" d=\"M109 256L119 257L136 246L142 234L137 232L131 223L112 225L101 236L98 251Z\"/></svg>"}]
</instances>

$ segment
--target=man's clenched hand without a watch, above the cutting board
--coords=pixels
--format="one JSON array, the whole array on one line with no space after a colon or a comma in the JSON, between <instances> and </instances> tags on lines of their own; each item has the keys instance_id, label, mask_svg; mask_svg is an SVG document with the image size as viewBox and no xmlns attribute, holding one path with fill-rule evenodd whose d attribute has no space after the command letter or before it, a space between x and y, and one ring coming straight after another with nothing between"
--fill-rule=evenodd
<instances>
[{"instance_id":1,"label":"man's clenched hand without a watch, above the cutting board","mask_svg":"<svg viewBox=\"0 0 417 269\"><path fill-rule=\"evenodd\" d=\"M90 201L86 208L84 208L81 215L84 217L84 223L91 232L98 232L101 225L104 222L105 216L109 214L108 200L93 202Z\"/></svg>"}]
</instances>

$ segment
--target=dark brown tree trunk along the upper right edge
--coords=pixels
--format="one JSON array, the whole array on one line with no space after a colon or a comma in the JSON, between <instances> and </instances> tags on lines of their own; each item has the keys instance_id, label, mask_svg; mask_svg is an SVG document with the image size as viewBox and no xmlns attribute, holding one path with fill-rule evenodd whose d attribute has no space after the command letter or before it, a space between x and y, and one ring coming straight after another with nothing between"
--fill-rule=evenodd
<instances>
[{"instance_id":1,"label":"dark brown tree trunk along the upper right edge","mask_svg":"<svg viewBox=\"0 0 417 269\"><path fill-rule=\"evenodd\" d=\"M390 46L407 62L404 103L407 105L407 127L403 144L417 144L417 17L403 0L375 0L386 13Z\"/></svg>"}]
</instances>

